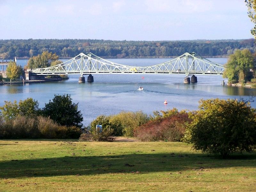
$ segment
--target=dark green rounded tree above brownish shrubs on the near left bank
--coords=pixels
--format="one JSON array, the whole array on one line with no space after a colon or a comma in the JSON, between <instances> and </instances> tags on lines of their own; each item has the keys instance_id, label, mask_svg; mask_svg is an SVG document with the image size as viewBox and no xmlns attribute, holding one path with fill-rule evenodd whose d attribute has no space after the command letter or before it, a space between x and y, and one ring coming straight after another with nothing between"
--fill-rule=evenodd
<instances>
[{"instance_id":1,"label":"dark green rounded tree above brownish shrubs on the near left bank","mask_svg":"<svg viewBox=\"0 0 256 192\"><path fill-rule=\"evenodd\" d=\"M82 127L83 116L78 110L78 103L72 103L70 95L54 95L54 98L45 103L42 109L43 116L50 118L60 125Z\"/></svg>"}]
</instances>

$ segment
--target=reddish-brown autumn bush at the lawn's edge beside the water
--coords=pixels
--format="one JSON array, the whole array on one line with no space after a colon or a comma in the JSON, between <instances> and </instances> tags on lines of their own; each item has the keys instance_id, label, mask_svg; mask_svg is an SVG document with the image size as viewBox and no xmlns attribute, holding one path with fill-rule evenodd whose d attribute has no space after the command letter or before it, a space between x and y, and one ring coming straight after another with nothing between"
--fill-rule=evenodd
<instances>
[{"instance_id":1,"label":"reddish-brown autumn bush at the lawn's edge beside the water","mask_svg":"<svg viewBox=\"0 0 256 192\"><path fill-rule=\"evenodd\" d=\"M178 112L174 108L169 112L164 112L165 117L162 117L159 113L155 114L158 115L148 123L138 127L134 135L141 141L180 141L184 136L186 126L190 122L188 113L185 111Z\"/></svg>"}]
</instances>

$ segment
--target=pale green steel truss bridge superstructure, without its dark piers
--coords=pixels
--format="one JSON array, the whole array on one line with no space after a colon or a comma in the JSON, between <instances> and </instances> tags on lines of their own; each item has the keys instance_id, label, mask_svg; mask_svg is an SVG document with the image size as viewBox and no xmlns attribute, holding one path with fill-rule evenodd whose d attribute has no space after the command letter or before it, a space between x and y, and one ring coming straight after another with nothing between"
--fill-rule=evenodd
<instances>
[{"instance_id":1,"label":"pale green steel truss bridge superstructure, without its dark piers","mask_svg":"<svg viewBox=\"0 0 256 192\"><path fill-rule=\"evenodd\" d=\"M35 75L60 74L203 74L222 75L225 68L195 52L184 53L172 60L147 67L127 66L102 59L93 53L80 53L76 57L59 65L47 68L31 69Z\"/></svg>"}]
</instances>

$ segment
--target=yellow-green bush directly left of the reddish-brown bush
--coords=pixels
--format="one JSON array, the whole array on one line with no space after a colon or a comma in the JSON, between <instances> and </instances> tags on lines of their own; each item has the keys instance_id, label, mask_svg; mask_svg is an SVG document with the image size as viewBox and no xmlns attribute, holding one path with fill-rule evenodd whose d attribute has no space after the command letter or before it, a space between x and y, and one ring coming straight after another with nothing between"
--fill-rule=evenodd
<instances>
[{"instance_id":1,"label":"yellow-green bush directly left of the reddish-brown bush","mask_svg":"<svg viewBox=\"0 0 256 192\"><path fill-rule=\"evenodd\" d=\"M112 124L116 124L118 127L119 135L124 135L127 137L133 137L134 130L142 125L147 123L149 117L147 114L143 113L142 111L137 112L125 112L122 111L117 115L113 115L109 117L109 122Z\"/></svg>"}]
</instances>

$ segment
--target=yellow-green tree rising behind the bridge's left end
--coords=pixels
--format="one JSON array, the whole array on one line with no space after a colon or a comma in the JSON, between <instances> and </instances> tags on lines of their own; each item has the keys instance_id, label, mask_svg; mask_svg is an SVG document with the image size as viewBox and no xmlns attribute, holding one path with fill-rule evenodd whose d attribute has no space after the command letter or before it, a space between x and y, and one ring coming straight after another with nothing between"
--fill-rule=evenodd
<instances>
[{"instance_id":1,"label":"yellow-green tree rising behind the bridge's left end","mask_svg":"<svg viewBox=\"0 0 256 192\"><path fill-rule=\"evenodd\" d=\"M59 59L59 56L56 53L44 51L42 54L31 57L28 60L27 68L46 68L50 67L53 61Z\"/></svg>"}]
</instances>

